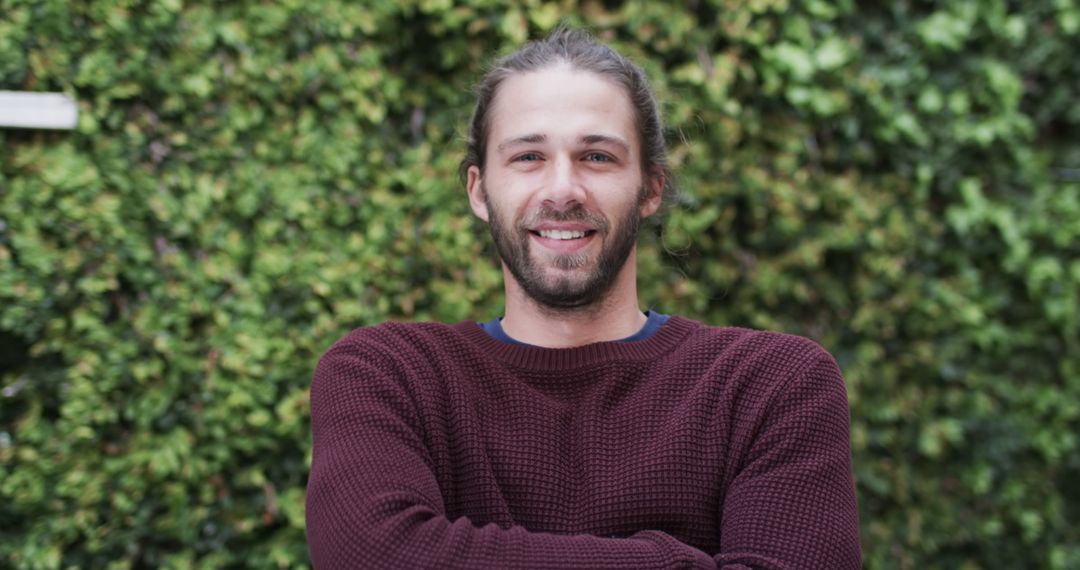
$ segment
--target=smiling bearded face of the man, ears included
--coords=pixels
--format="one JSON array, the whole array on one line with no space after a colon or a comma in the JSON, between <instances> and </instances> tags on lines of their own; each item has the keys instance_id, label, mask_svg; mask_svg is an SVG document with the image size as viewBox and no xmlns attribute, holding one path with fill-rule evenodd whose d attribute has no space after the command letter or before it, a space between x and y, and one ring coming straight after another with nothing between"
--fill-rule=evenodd
<instances>
[{"instance_id":1,"label":"smiling bearded face of the man, ears included","mask_svg":"<svg viewBox=\"0 0 1080 570\"><path fill-rule=\"evenodd\" d=\"M488 124L469 195L503 263L542 306L594 304L660 205L659 185L643 180L629 97L602 76L552 67L505 80Z\"/></svg>"}]
</instances>

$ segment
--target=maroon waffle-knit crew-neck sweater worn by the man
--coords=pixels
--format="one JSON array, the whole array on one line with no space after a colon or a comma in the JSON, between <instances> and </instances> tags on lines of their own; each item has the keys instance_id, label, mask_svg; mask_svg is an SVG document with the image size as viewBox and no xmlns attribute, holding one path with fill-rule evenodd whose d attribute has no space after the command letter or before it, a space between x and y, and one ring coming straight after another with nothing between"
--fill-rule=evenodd
<instances>
[{"instance_id":1,"label":"maroon waffle-knit crew-neck sweater worn by the man","mask_svg":"<svg viewBox=\"0 0 1080 570\"><path fill-rule=\"evenodd\" d=\"M390 323L322 357L311 424L320 569L860 566L843 380L799 337Z\"/></svg>"}]
</instances>

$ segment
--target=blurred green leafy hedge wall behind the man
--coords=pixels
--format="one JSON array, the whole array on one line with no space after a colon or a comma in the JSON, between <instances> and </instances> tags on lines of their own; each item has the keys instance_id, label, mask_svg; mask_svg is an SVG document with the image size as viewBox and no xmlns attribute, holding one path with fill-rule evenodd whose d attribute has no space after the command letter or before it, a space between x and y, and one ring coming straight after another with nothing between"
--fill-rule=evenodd
<instances>
[{"instance_id":1,"label":"blurred green leafy hedge wall behind the man","mask_svg":"<svg viewBox=\"0 0 1080 570\"><path fill-rule=\"evenodd\" d=\"M0 131L0 566L306 566L314 363L498 314L469 86L565 18L672 127L643 300L837 355L866 566L1080 567L1080 3L940 4L0 0L81 110Z\"/></svg>"}]
</instances>

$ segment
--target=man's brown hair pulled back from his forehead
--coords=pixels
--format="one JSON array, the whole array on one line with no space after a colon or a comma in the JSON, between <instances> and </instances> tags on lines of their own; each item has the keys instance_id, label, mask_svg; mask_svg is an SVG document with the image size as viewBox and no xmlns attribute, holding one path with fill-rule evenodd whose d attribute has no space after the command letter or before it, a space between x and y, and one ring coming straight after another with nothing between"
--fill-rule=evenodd
<instances>
[{"instance_id":1,"label":"man's brown hair pulled back from his forehead","mask_svg":"<svg viewBox=\"0 0 1080 570\"><path fill-rule=\"evenodd\" d=\"M476 84L476 107L469 121L465 157L458 168L461 182L465 184L471 166L484 169L487 137L491 126L491 104L499 85L515 74L539 71L559 64L568 64L575 70L597 73L613 80L625 90L634 108L634 123L642 148L643 178L648 182L657 176L663 177L661 192L663 203L666 204L675 192L675 186L667 165L663 120L645 71L611 48L596 41L589 32L564 26L557 27L546 38L530 41L496 60Z\"/></svg>"}]
</instances>

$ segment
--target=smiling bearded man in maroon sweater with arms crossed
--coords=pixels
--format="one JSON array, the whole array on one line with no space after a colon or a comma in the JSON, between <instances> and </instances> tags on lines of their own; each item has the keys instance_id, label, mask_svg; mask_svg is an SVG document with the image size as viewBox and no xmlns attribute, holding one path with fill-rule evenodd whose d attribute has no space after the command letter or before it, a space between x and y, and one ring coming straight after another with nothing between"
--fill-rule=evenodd
<instances>
[{"instance_id":1,"label":"smiling bearded man in maroon sweater with arms crossed","mask_svg":"<svg viewBox=\"0 0 1080 570\"><path fill-rule=\"evenodd\" d=\"M858 568L834 359L638 308L637 229L671 179L642 70L559 30L477 93L462 173L505 314L323 356L315 567Z\"/></svg>"}]
</instances>

